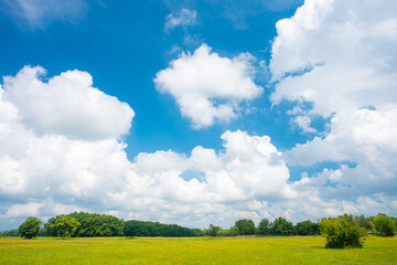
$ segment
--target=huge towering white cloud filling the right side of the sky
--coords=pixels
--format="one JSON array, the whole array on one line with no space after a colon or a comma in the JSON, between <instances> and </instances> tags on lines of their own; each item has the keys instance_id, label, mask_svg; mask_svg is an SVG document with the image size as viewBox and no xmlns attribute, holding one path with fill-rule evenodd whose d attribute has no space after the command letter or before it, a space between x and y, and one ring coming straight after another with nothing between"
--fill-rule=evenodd
<instances>
[{"instance_id":1,"label":"huge towering white cloud filling the right side of the sky","mask_svg":"<svg viewBox=\"0 0 397 265\"><path fill-rule=\"evenodd\" d=\"M307 132L315 132L316 115L330 120L321 136L283 156L289 165L341 165L293 184L302 197L330 202L334 213L396 212L387 202L397 188L396 10L390 1L307 0L277 22L271 100L297 103L289 114ZM345 208L336 211L335 198Z\"/></svg>"}]
</instances>

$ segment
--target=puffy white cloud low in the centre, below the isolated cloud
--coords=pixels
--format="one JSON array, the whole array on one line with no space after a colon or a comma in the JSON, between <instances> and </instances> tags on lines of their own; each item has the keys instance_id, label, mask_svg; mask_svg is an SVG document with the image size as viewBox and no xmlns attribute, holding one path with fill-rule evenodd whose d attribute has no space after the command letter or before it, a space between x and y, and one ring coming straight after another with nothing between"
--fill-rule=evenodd
<instances>
[{"instance_id":1,"label":"puffy white cloud low in the centre, below the isolated cloud","mask_svg":"<svg viewBox=\"0 0 397 265\"><path fill-rule=\"evenodd\" d=\"M175 201L230 202L294 195L287 184L289 171L269 137L237 130L226 131L222 139L225 151L221 153L201 146L189 158L172 151L140 153L132 165L130 182L146 178L152 183L148 193ZM202 172L202 177L184 179L183 173L190 170Z\"/></svg>"}]
</instances>

